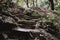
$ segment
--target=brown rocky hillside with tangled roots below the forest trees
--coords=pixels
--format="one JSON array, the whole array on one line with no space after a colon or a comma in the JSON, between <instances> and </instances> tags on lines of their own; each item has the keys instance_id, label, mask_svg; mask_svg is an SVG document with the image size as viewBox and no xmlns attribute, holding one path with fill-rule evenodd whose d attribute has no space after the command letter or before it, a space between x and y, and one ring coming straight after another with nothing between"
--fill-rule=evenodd
<instances>
[{"instance_id":1,"label":"brown rocky hillside with tangled roots below the forest trees","mask_svg":"<svg viewBox=\"0 0 60 40\"><path fill-rule=\"evenodd\" d=\"M14 3L8 7L4 4L1 3L0 6L0 35L3 35L2 40L60 39L59 13L39 7L25 9Z\"/></svg>"}]
</instances>

